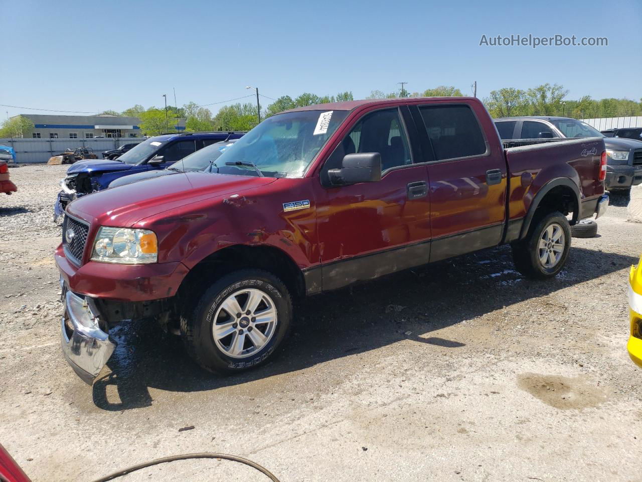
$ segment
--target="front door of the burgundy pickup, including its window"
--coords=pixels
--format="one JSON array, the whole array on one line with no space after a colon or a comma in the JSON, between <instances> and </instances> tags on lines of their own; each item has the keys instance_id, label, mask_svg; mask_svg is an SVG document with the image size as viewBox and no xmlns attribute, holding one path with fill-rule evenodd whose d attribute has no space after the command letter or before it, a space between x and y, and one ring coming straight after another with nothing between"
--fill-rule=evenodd
<instances>
[{"instance_id":1,"label":"front door of the burgundy pickup, including its window","mask_svg":"<svg viewBox=\"0 0 642 482\"><path fill-rule=\"evenodd\" d=\"M381 154L381 180L329 184L327 170L339 167L346 154L359 152ZM363 115L328 157L317 199L324 290L428 262L428 170L413 165L415 157L421 159L411 150L397 107Z\"/></svg>"}]
</instances>

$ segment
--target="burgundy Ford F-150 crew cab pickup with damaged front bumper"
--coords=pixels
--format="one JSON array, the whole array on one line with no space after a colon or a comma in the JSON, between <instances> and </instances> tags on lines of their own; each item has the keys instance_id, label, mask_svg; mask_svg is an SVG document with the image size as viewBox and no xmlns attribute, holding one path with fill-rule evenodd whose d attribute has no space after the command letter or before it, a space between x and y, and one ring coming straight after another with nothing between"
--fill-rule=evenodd
<instances>
[{"instance_id":1,"label":"burgundy Ford F-150 crew cab pickup with damaged front bumper","mask_svg":"<svg viewBox=\"0 0 642 482\"><path fill-rule=\"evenodd\" d=\"M607 206L605 169L603 138L505 148L476 98L282 112L210 172L67 206L64 355L91 383L110 328L156 319L206 370L238 371L277 352L295 298L506 243L525 276L555 276L569 225Z\"/></svg>"}]
</instances>

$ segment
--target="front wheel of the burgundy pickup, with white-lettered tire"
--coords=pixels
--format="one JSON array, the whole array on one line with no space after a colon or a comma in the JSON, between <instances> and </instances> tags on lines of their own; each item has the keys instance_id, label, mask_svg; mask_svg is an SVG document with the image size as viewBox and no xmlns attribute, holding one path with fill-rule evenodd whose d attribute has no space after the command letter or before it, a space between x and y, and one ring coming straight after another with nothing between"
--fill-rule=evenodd
<instances>
[{"instance_id":1,"label":"front wheel of the burgundy pickup, with white-lettered tire","mask_svg":"<svg viewBox=\"0 0 642 482\"><path fill-rule=\"evenodd\" d=\"M247 309L252 308L248 303L263 314L263 320L272 321L261 321L252 316L252 310L248 315ZM187 308L180 319L180 334L187 353L202 368L234 373L272 359L290 332L291 317L290 293L281 280L267 271L243 269L220 278L191 312Z\"/></svg>"}]
</instances>

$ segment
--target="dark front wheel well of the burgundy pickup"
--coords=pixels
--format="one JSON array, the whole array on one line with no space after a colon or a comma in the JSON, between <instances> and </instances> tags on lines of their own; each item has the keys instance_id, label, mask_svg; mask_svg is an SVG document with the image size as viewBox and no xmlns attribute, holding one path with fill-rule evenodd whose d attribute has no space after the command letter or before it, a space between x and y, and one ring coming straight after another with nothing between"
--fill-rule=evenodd
<instances>
[{"instance_id":1,"label":"dark front wheel well of the burgundy pickup","mask_svg":"<svg viewBox=\"0 0 642 482\"><path fill-rule=\"evenodd\" d=\"M288 254L276 247L233 245L210 254L189 270L178 289L182 299L199 298L223 274L239 269L263 269L279 278L294 298L303 298L303 273Z\"/></svg>"}]
</instances>

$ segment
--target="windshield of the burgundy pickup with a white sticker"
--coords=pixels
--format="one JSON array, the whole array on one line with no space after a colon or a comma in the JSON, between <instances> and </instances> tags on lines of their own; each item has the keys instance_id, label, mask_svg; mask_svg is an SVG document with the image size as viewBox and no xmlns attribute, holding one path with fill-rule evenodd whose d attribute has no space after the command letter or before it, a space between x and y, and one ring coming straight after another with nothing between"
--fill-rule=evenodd
<instances>
[{"instance_id":1,"label":"windshield of the burgundy pickup with a white sticker","mask_svg":"<svg viewBox=\"0 0 642 482\"><path fill-rule=\"evenodd\" d=\"M302 177L347 114L299 111L268 117L226 150L211 172Z\"/></svg>"}]
</instances>

